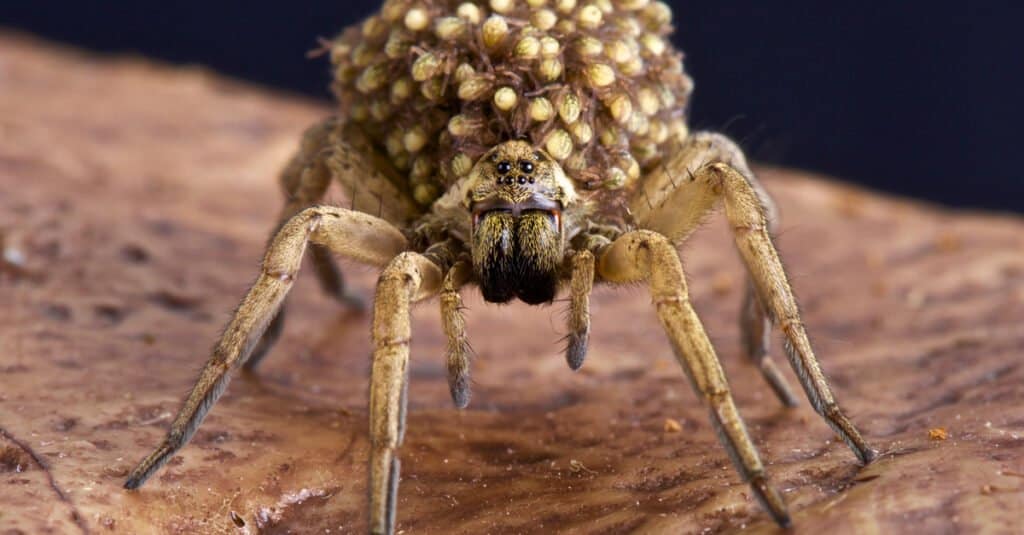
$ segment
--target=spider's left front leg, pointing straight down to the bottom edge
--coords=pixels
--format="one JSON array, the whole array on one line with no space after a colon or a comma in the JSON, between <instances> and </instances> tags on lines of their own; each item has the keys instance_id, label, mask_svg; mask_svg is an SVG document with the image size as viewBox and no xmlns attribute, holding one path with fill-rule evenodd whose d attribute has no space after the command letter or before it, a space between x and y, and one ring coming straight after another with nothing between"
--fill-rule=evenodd
<instances>
[{"instance_id":1,"label":"spider's left front leg, pointing straight down to the bottom edge","mask_svg":"<svg viewBox=\"0 0 1024 535\"><path fill-rule=\"evenodd\" d=\"M370 531L394 532L399 462L409 385L410 308L441 290L441 266L404 252L380 276L374 298L373 368L370 382Z\"/></svg>"}]
</instances>

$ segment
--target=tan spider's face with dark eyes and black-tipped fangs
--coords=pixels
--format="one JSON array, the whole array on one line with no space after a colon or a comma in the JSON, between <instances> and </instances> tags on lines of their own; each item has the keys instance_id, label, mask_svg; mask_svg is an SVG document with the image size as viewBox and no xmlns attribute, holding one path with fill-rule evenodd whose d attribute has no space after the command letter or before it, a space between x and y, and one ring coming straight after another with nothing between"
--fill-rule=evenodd
<instances>
[{"instance_id":1,"label":"tan spider's face with dark eyes and black-tipped fangs","mask_svg":"<svg viewBox=\"0 0 1024 535\"><path fill-rule=\"evenodd\" d=\"M565 248L562 210L575 201L558 163L525 141L484 154L469 176L473 268L483 298L550 301Z\"/></svg>"}]
</instances>

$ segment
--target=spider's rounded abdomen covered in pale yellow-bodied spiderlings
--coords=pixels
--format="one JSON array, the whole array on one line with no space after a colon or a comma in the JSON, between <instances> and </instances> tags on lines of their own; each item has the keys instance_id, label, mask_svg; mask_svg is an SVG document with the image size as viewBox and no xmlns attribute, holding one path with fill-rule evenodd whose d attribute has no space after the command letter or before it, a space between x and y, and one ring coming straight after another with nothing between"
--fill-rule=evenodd
<instances>
[{"instance_id":1,"label":"spider's rounded abdomen covered in pale yellow-bodied spiderlings","mask_svg":"<svg viewBox=\"0 0 1024 535\"><path fill-rule=\"evenodd\" d=\"M429 206L509 139L622 191L685 138L692 87L647 0L388 0L331 47L334 91Z\"/></svg>"}]
</instances>

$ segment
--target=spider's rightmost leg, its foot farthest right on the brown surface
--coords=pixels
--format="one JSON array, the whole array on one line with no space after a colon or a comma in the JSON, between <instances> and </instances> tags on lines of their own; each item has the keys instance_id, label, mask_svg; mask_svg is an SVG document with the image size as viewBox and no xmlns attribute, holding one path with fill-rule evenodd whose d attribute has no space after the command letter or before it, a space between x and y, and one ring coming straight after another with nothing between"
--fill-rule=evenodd
<instances>
[{"instance_id":1,"label":"spider's rightmost leg, its foot farthest right on the brown surface","mask_svg":"<svg viewBox=\"0 0 1024 535\"><path fill-rule=\"evenodd\" d=\"M752 182L748 176L750 170L741 161L722 161L720 155L725 154L724 148L731 146L725 137L703 134L698 139L705 140L703 149L694 151L703 156L694 159L694 162L701 165L690 169L682 162L669 164L671 168L681 166L679 168L686 172L675 187L663 192L660 204L647 211L645 219L641 220L642 227L671 235L674 229L671 209L685 204L687 211L706 214L719 199L724 201L726 218L732 228L740 257L754 282L757 300L778 322L785 338L783 345L786 357L797 372L807 398L814 410L846 442L857 458L864 463L870 462L877 453L840 410L814 357L800 318L797 299L771 240L768 214L757 193L756 182Z\"/></svg>"}]
</instances>

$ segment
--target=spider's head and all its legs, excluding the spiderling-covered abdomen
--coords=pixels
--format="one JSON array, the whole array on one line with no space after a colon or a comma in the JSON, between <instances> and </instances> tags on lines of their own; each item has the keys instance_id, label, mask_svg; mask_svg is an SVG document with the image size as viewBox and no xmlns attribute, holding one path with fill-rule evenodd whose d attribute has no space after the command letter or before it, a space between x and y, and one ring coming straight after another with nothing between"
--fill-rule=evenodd
<instances>
[{"instance_id":1,"label":"spider's head and all its legs, excluding the spiderling-covered abdomen","mask_svg":"<svg viewBox=\"0 0 1024 535\"><path fill-rule=\"evenodd\" d=\"M740 151L726 137L695 133L663 167L642 178L629 199L636 229L598 227L593 207L543 150L509 140L480 158L467 180L453 187L413 220L412 206L384 178L367 153L353 147L344 126L328 120L304 137L284 173L288 202L262 271L213 349L163 444L132 470L135 489L188 442L237 368L253 369L281 332L283 302L307 246L324 289L351 302L331 254L383 268L373 304L370 392L370 520L375 533L393 531L409 379L411 305L440 297L447 336L452 398L469 402L470 352L459 291L477 285L485 300L515 297L551 301L564 286L568 299L568 366L584 363L590 334L593 284L645 283L672 348L711 409L722 444L754 494L780 525L790 517L768 482L758 452L736 410L722 366L690 304L678 245L722 201L750 274L742 307L743 345L786 406L797 397L767 353L777 323L785 354L814 409L857 458L876 452L843 414L811 351L778 253L771 240L772 204ZM350 196L376 192L384 204L355 202L355 209L316 205L332 178ZM366 205L366 206L364 206ZM372 208L370 207L372 205ZM366 210L366 211L360 211ZM381 211L381 216L368 211Z\"/></svg>"}]
</instances>

